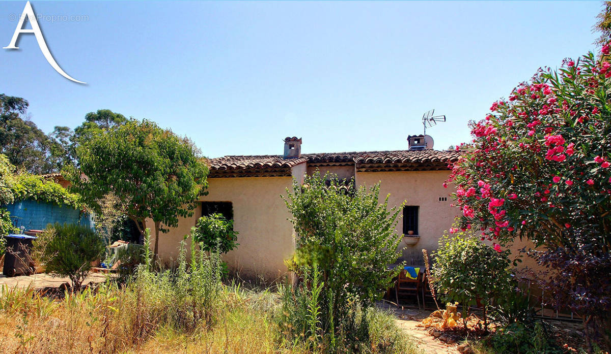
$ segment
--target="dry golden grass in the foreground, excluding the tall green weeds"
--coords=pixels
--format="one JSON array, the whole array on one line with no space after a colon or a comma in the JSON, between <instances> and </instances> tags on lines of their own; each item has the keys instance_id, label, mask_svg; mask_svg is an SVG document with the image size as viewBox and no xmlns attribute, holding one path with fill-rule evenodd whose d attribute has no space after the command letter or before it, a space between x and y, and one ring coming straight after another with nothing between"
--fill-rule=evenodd
<instances>
[{"instance_id":1,"label":"dry golden grass in the foreground, excluding the tall green weeds","mask_svg":"<svg viewBox=\"0 0 611 354\"><path fill-rule=\"evenodd\" d=\"M313 353L301 342L286 342L278 335L276 292L247 291L233 285L224 286L221 297L223 305L214 324L200 323L186 331L168 319L167 300L171 299L161 292L145 295L110 283L98 291L52 300L32 289L4 288L0 294L0 353ZM386 333L393 321L386 314L378 317L378 327L387 328L378 332ZM397 328L390 328L392 336L401 336L393 330ZM401 347L402 353L404 349Z\"/></svg>"}]
</instances>

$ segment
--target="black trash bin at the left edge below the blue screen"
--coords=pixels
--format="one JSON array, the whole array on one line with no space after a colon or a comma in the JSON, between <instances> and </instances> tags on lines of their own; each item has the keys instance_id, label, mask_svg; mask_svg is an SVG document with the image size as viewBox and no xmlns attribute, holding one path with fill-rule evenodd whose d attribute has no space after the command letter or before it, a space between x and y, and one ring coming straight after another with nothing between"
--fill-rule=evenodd
<instances>
[{"instance_id":1,"label":"black trash bin at the left edge below the blue screen","mask_svg":"<svg viewBox=\"0 0 611 354\"><path fill-rule=\"evenodd\" d=\"M14 277L17 274L34 274L35 264L30 256L30 250L36 236L9 234L4 238L6 239L6 252L2 273L7 277Z\"/></svg>"}]
</instances>

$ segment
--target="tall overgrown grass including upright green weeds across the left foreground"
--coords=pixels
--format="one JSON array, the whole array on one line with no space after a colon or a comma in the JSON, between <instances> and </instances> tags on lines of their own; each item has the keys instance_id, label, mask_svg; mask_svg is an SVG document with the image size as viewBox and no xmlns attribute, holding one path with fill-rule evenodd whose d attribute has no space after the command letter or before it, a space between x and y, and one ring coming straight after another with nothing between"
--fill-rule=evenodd
<instances>
[{"instance_id":1,"label":"tall overgrown grass including upright green weeds across the left foreground","mask_svg":"<svg viewBox=\"0 0 611 354\"><path fill-rule=\"evenodd\" d=\"M34 289L2 288L0 353L321 352L280 334L278 291L220 279L218 255L192 247L187 261L183 246L173 271L153 271L145 262L125 286L108 281L55 300ZM362 352L413 352L389 314L371 310L367 317L370 342Z\"/></svg>"}]
</instances>

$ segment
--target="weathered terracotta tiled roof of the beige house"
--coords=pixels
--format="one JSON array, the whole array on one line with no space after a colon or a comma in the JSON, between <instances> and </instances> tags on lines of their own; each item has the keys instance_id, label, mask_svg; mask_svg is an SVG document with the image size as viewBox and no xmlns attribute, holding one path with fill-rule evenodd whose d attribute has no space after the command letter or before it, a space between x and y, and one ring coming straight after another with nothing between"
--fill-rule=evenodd
<instances>
[{"instance_id":1,"label":"weathered terracotta tiled roof of the beige house","mask_svg":"<svg viewBox=\"0 0 611 354\"><path fill-rule=\"evenodd\" d=\"M282 155L224 156L210 159L210 177L240 174L240 177L262 174L291 175L290 169L299 163L312 165L351 165L359 171L404 171L422 169L448 169L450 162L461 153L439 150L395 150L303 154L299 158L285 159Z\"/></svg>"}]
</instances>

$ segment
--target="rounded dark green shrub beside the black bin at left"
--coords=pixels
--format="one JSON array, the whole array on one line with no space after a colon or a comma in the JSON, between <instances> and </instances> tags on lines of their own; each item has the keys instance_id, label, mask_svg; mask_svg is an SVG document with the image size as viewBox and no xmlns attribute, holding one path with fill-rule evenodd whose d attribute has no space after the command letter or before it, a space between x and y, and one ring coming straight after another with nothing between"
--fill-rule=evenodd
<instances>
[{"instance_id":1,"label":"rounded dark green shrub beside the black bin at left","mask_svg":"<svg viewBox=\"0 0 611 354\"><path fill-rule=\"evenodd\" d=\"M104 253L104 242L89 227L72 224L48 225L34 242L34 254L46 271L68 277L79 288L91 269L91 263Z\"/></svg>"}]
</instances>

